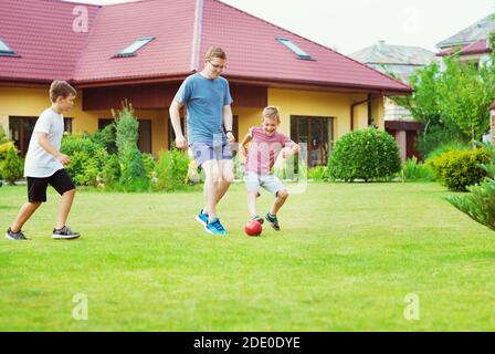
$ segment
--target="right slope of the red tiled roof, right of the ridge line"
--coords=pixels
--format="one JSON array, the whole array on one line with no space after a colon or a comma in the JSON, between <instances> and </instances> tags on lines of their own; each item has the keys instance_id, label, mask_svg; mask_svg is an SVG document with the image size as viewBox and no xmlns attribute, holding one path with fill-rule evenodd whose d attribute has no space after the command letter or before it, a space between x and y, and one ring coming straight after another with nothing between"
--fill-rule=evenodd
<instances>
[{"instance_id":1,"label":"right slope of the red tiled roof, right of the ridge line","mask_svg":"<svg viewBox=\"0 0 495 354\"><path fill-rule=\"evenodd\" d=\"M409 91L367 65L217 0L204 0L201 51L215 43L228 55L227 76ZM291 40L315 60L299 60L276 41Z\"/></svg>"}]
</instances>

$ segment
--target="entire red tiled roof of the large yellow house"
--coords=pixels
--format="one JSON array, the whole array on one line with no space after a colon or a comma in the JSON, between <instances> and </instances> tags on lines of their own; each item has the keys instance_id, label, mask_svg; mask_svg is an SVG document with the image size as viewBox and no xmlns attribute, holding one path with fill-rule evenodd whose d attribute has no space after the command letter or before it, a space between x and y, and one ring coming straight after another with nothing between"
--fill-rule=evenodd
<instances>
[{"instance_id":1,"label":"entire red tiled roof of the large yellow house","mask_svg":"<svg viewBox=\"0 0 495 354\"><path fill-rule=\"evenodd\" d=\"M86 85L178 80L201 70L203 53L214 44L228 54L224 74L230 80L410 92L386 74L218 0L85 6L87 33L72 31L76 6L2 0L0 39L21 58L0 56L0 80L64 79ZM141 37L155 40L135 56L113 58ZM277 37L289 39L314 60L297 59Z\"/></svg>"}]
</instances>

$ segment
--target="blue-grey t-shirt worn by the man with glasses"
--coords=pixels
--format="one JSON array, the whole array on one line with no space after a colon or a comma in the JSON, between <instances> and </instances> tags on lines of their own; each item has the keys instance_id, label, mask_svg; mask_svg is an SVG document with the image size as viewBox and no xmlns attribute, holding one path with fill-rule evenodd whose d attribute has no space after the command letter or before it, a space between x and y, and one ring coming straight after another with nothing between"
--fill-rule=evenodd
<instances>
[{"instance_id":1,"label":"blue-grey t-shirt worn by the man with glasses","mask_svg":"<svg viewBox=\"0 0 495 354\"><path fill-rule=\"evenodd\" d=\"M223 134L223 106L232 104L229 82L224 77L207 79L200 73L188 76L175 100L188 110L188 140L211 143L215 134Z\"/></svg>"}]
</instances>

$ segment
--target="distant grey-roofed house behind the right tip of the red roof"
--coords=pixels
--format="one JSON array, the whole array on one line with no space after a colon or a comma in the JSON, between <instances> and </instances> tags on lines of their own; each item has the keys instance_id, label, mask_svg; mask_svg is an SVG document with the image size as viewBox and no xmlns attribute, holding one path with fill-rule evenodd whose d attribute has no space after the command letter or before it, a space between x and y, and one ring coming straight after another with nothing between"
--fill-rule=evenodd
<instances>
[{"instance_id":1,"label":"distant grey-roofed house behind the right tip of the red roof","mask_svg":"<svg viewBox=\"0 0 495 354\"><path fill-rule=\"evenodd\" d=\"M409 84L410 77L435 60L435 53L418 46L391 45L385 41L365 48L350 54L357 61L367 64L386 74L391 74L403 83ZM415 148L415 137L424 126L413 122L411 113L393 101L383 97L385 128L396 139L400 148L401 159L420 157Z\"/></svg>"}]
</instances>

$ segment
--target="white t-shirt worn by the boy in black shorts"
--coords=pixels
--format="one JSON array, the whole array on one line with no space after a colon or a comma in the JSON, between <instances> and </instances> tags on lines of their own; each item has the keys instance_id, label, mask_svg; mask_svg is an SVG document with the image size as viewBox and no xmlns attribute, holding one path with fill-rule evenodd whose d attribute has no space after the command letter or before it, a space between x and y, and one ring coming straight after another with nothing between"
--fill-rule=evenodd
<instances>
[{"instance_id":1,"label":"white t-shirt worn by the boy in black shorts","mask_svg":"<svg viewBox=\"0 0 495 354\"><path fill-rule=\"evenodd\" d=\"M60 150L64 134L64 117L46 108L38 118L25 154L24 177L50 177L64 168L55 156L50 155L38 142L36 133L46 133L50 144Z\"/></svg>"}]
</instances>

